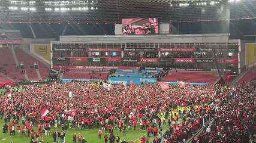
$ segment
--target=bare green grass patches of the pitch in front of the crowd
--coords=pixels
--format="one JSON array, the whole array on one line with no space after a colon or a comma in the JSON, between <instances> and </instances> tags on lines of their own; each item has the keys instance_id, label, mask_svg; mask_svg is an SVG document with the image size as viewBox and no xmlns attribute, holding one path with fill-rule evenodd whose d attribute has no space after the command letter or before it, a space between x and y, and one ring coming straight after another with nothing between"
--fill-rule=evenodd
<instances>
[{"instance_id":1,"label":"bare green grass patches of the pitch in front of the crowd","mask_svg":"<svg viewBox=\"0 0 256 143\"><path fill-rule=\"evenodd\" d=\"M3 125L3 120L0 121L0 126L2 127ZM54 132L55 130L59 130L61 131L60 128L52 128L51 129L51 133ZM103 136L106 135L105 133L103 133L101 139L98 139L98 129L68 129L68 133L66 136L66 142L70 143L72 142L72 136L73 133L80 133L83 137L85 137L86 141L89 143L99 143L99 142L104 142L103 140ZM136 130L128 130L127 134L124 136L121 134L121 132L119 132L119 130L115 130L114 131L115 135L119 135L119 137L123 140L126 139L127 141L135 141L135 143L138 142L138 138L140 138L140 136L146 135L146 131L144 130L140 130L140 129L136 129ZM107 133L107 135L109 135L109 133ZM1 143L29 143L31 141L31 138L28 135L22 136L20 134L17 134L15 136L10 136L9 134L5 134L2 133L2 130L0 132L0 142ZM50 136L43 136L43 141L52 143L53 142L53 138L52 135Z\"/></svg>"}]
</instances>

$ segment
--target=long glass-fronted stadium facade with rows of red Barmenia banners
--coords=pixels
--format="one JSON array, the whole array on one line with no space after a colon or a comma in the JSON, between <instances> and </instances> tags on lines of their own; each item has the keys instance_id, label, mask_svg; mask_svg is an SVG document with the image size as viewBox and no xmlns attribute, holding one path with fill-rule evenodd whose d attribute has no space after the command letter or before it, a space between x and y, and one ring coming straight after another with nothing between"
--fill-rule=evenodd
<instances>
[{"instance_id":1,"label":"long glass-fronted stadium facade with rows of red Barmenia banners","mask_svg":"<svg viewBox=\"0 0 256 143\"><path fill-rule=\"evenodd\" d=\"M232 71L245 66L245 43L228 34L61 36L52 41L53 69L104 67Z\"/></svg>"}]
</instances>

